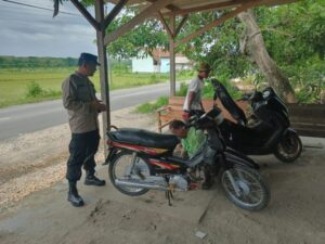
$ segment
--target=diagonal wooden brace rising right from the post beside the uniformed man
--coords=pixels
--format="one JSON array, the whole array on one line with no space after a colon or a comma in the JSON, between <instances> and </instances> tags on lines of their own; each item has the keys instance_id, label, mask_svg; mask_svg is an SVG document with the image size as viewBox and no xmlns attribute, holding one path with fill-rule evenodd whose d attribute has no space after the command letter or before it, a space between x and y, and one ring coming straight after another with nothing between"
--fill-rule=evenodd
<instances>
[{"instance_id":1,"label":"diagonal wooden brace rising right from the post beside the uniformed man","mask_svg":"<svg viewBox=\"0 0 325 244\"><path fill-rule=\"evenodd\" d=\"M112 42L112 41L116 40L118 37L130 31L132 28L134 28L134 26L141 24L142 22L144 22L144 20L154 15L155 13L157 13L157 11L159 11L160 9L165 8L166 5L168 5L172 2L173 2L173 0L157 0L157 1L155 1L153 4L151 4L145 10L143 10L140 14L134 16L130 22L120 26L115 31L105 35L104 44L106 46L108 42Z\"/></svg>"}]
</instances>

